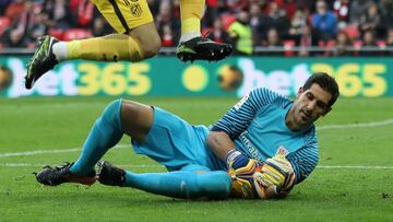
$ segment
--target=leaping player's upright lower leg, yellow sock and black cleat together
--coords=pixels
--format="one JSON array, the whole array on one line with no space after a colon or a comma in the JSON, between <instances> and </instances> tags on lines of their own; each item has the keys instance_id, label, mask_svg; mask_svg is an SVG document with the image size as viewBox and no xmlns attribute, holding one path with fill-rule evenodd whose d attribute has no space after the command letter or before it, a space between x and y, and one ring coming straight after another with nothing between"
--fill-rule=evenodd
<instances>
[{"instance_id":1,"label":"leaping player's upright lower leg, yellow sock and black cleat together","mask_svg":"<svg viewBox=\"0 0 393 222\"><path fill-rule=\"evenodd\" d=\"M181 61L217 61L229 56L233 50L229 44L219 44L201 37L204 5L205 0L180 0L181 38L177 57Z\"/></svg>"}]
</instances>

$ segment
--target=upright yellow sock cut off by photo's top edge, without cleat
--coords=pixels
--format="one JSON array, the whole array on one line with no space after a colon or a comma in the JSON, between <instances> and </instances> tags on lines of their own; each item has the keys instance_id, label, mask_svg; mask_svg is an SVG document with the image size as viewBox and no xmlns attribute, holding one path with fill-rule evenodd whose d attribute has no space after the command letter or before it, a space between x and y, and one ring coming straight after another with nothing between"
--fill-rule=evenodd
<instances>
[{"instance_id":1,"label":"upright yellow sock cut off by photo's top edge, without cleat","mask_svg":"<svg viewBox=\"0 0 393 222\"><path fill-rule=\"evenodd\" d=\"M201 20L203 16L204 4L204 0L180 0L180 43L201 36Z\"/></svg>"}]
</instances>

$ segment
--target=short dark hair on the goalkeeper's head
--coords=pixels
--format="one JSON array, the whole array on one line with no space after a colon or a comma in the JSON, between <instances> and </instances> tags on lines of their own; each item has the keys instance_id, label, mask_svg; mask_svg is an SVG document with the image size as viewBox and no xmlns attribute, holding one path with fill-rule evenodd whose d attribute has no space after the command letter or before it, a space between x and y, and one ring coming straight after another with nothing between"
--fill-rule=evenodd
<instances>
[{"instance_id":1,"label":"short dark hair on the goalkeeper's head","mask_svg":"<svg viewBox=\"0 0 393 222\"><path fill-rule=\"evenodd\" d=\"M332 98L327 103L327 108L332 107L340 95L338 84L335 79L325 72L315 72L305 82L302 87L308 90L313 83L317 83L324 91L332 95Z\"/></svg>"}]
</instances>

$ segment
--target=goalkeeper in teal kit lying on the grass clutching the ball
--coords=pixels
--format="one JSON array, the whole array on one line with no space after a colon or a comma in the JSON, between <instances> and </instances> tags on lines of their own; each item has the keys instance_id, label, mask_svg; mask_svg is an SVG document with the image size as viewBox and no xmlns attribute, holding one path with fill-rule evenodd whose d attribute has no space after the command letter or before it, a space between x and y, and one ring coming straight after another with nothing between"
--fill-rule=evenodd
<instances>
[{"instance_id":1,"label":"goalkeeper in teal kit lying on the grass clutching the ball","mask_svg":"<svg viewBox=\"0 0 393 222\"><path fill-rule=\"evenodd\" d=\"M313 122L338 96L335 80L311 75L290 101L255 89L214 126L192 126L158 107L117 100L94 124L79 160L45 166L39 183L133 187L175 198L285 197L318 163ZM98 161L123 135L135 153L167 167L136 174ZM98 164L97 164L98 163ZM98 171L95 171L95 165Z\"/></svg>"}]
</instances>

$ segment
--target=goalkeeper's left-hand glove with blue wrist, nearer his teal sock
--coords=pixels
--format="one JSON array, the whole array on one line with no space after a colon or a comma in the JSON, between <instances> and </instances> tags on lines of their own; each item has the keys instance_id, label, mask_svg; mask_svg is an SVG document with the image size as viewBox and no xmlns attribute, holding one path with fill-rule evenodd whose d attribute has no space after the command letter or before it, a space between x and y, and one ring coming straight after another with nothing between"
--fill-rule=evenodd
<instances>
[{"instance_id":1,"label":"goalkeeper's left-hand glove with blue wrist, nearer his teal sock","mask_svg":"<svg viewBox=\"0 0 393 222\"><path fill-rule=\"evenodd\" d=\"M231 195L237 198L255 198L253 174L259 167L257 161L247 157L236 149L227 154L227 167L230 175Z\"/></svg>"}]
</instances>

